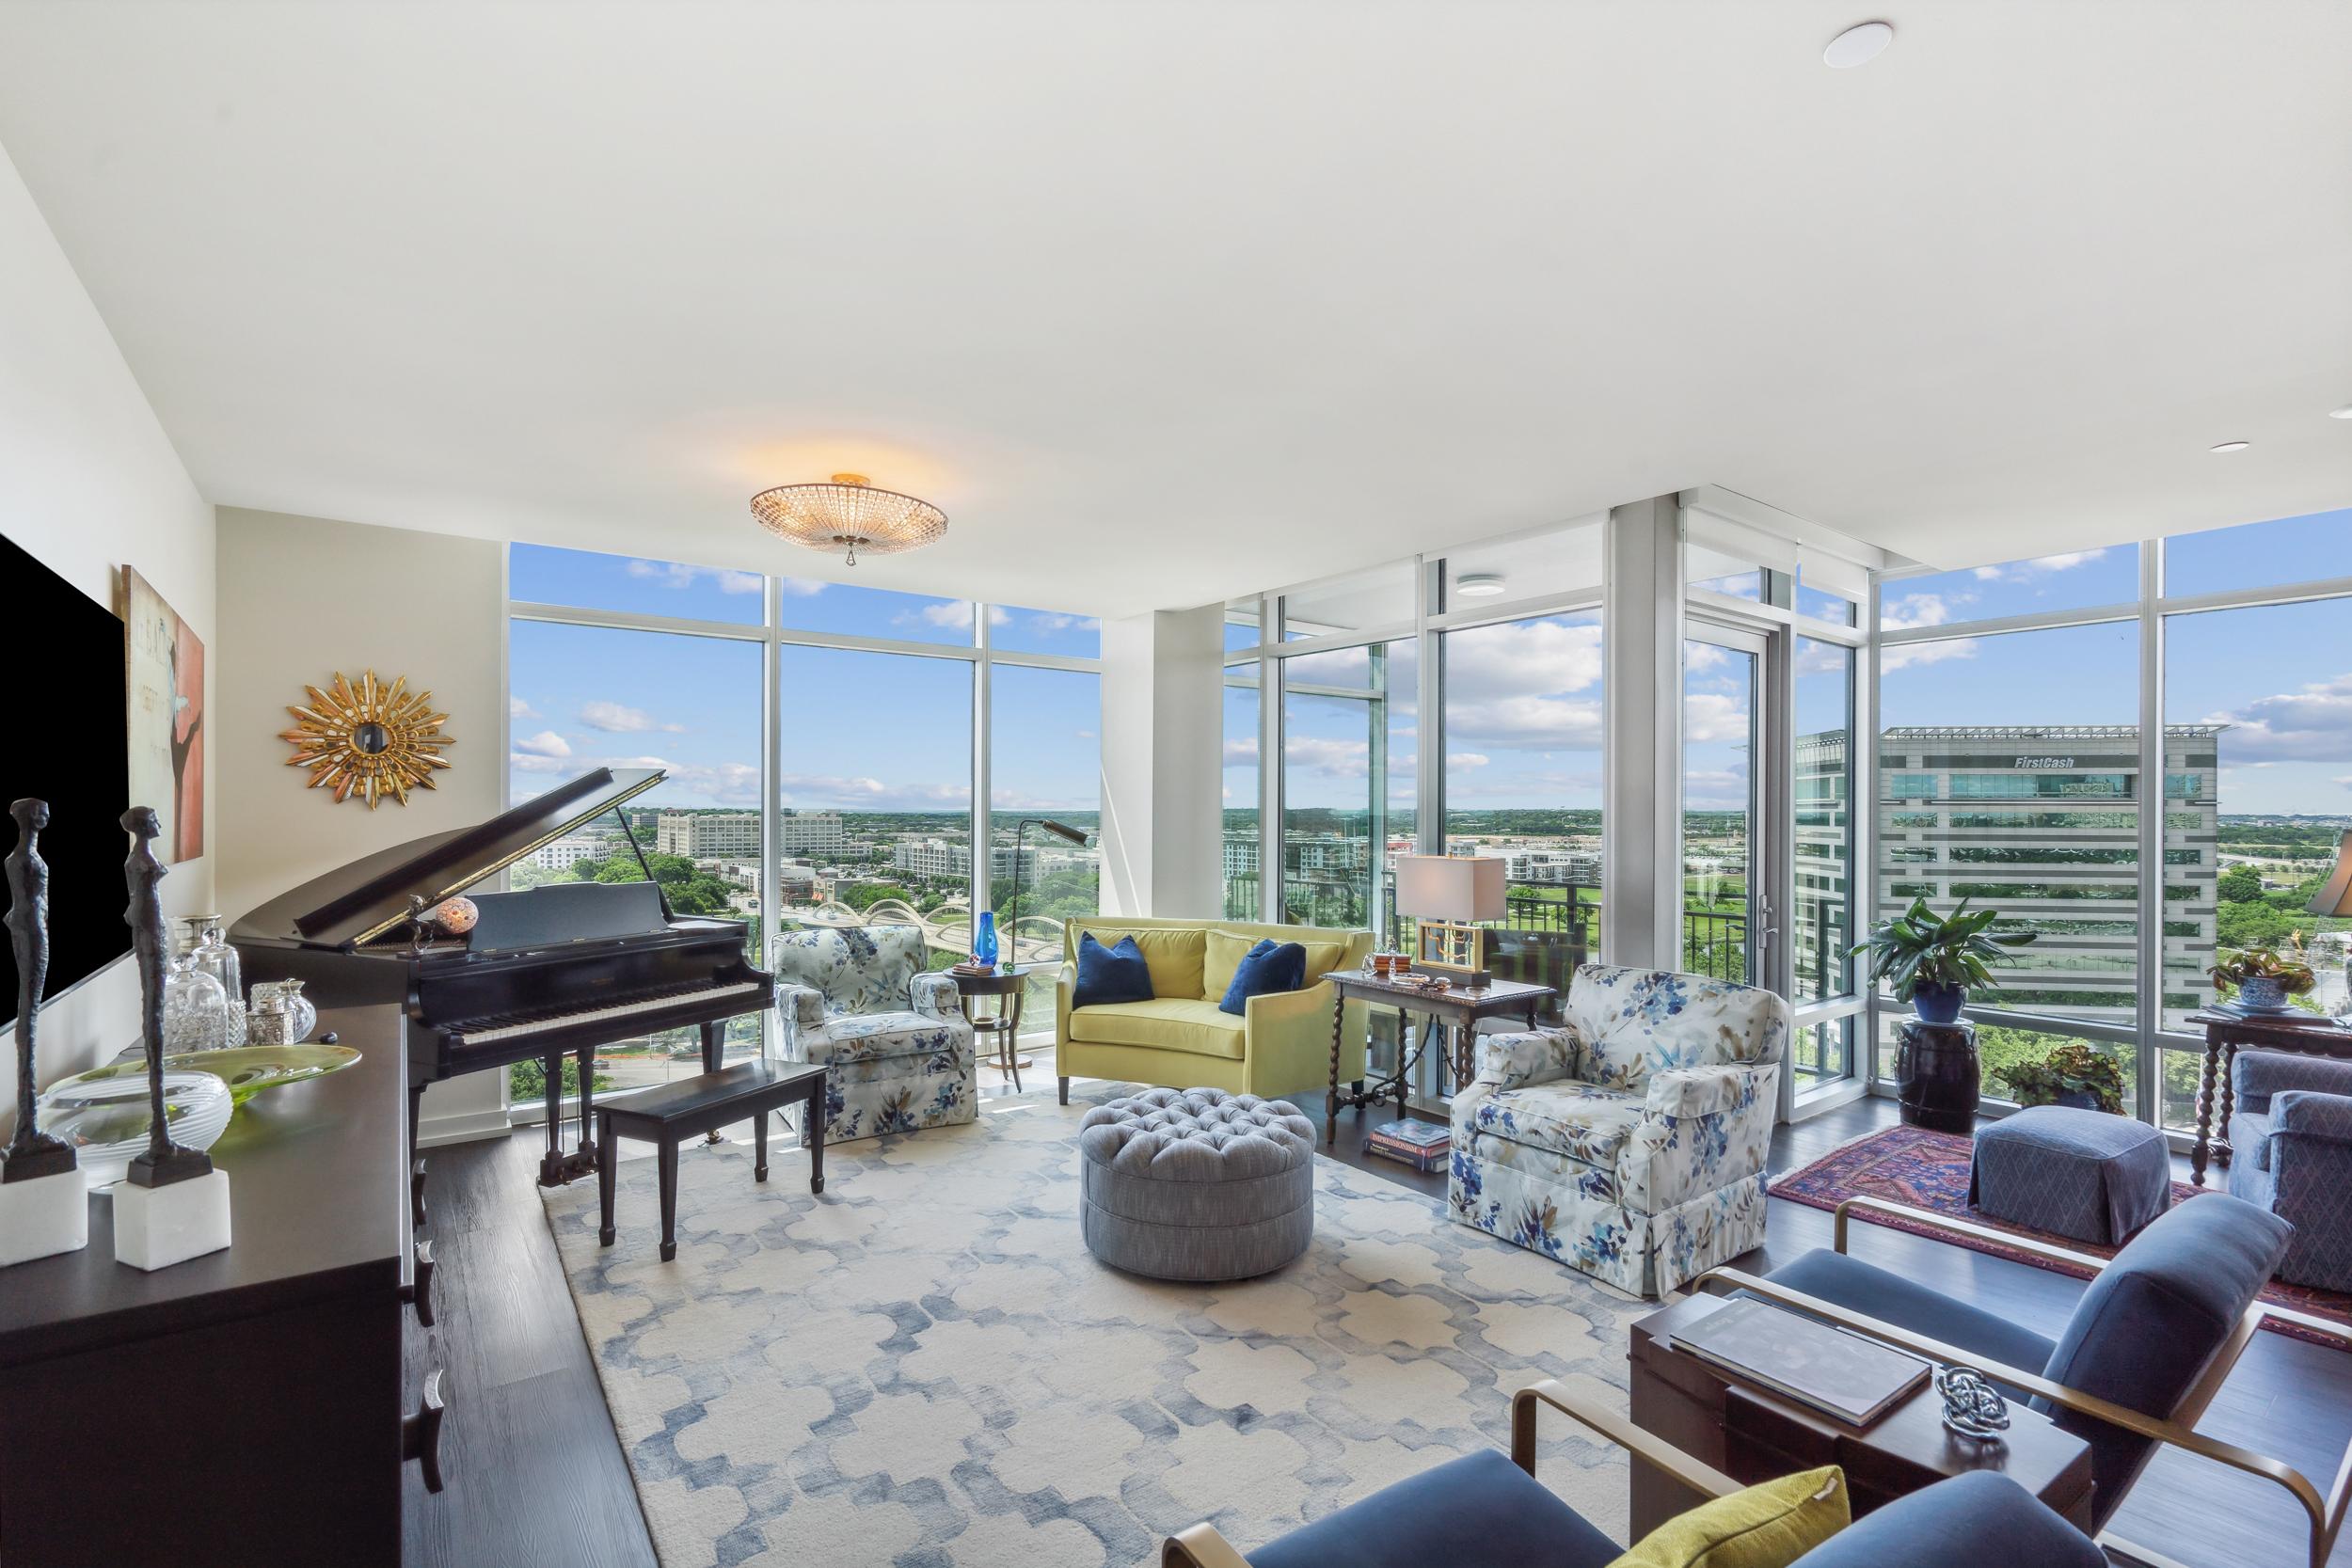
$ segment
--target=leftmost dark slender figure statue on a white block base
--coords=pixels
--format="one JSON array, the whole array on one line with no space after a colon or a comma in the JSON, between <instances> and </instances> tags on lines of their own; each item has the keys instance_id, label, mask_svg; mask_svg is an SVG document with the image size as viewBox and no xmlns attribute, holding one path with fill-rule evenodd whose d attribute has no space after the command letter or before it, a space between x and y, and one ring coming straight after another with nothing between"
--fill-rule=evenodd
<instances>
[{"instance_id":1,"label":"leftmost dark slender figure statue on a white block base","mask_svg":"<svg viewBox=\"0 0 2352 1568\"><path fill-rule=\"evenodd\" d=\"M16 947L16 1135L0 1164L0 1267L89 1246L89 1187L73 1145L42 1133L33 1117L40 992L49 980L49 865L40 830L49 802L19 799L16 849L7 858L7 933Z\"/></svg>"}]
</instances>

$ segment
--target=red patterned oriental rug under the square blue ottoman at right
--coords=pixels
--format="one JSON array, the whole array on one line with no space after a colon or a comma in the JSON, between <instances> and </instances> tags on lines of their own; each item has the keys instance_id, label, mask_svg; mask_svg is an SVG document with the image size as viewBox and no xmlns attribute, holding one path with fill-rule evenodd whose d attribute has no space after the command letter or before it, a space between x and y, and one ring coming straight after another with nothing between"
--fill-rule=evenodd
<instances>
[{"instance_id":1,"label":"red patterned oriental rug under the square blue ottoman at right","mask_svg":"<svg viewBox=\"0 0 2352 1568\"><path fill-rule=\"evenodd\" d=\"M1926 1208L1931 1213L1947 1213L1955 1220L1971 1220L1976 1225L1990 1225L1994 1229L2006 1229L2016 1237L2034 1237L2037 1241L2056 1241L2058 1246L2074 1248L2079 1253L2096 1253L2098 1258L2114 1258L2112 1246L2093 1246L2091 1241L2074 1241L2072 1237L2053 1237L2042 1229L2027 1229L2023 1225L2009 1225L1990 1215L1978 1213L1969 1206L1969 1147L1971 1138L1962 1133L1931 1133L1922 1126L1889 1126L1877 1133L1867 1133L1830 1150L1802 1171L1790 1171L1788 1175L1773 1180L1771 1194L1776 1199L1790 1199L1792 1204L1806 1204L1811 1208L1837 1208L1849 1197L1879 1197L1891 1204L1907 1204L1910 1208ZM2187 1182L2173 1182L2173 1201L2185 1204L2201 1190ZM2211 1190L2204 1190L2211 1192ZM1865 1215L1856 1211L1858 1220L1867 1218L1872 1225L1886 1225L1891 1229L1910 1232L1915 1237L1933 1234L1952 1246L1964 1246L1971 1253L1990 1253L1994 1258L2009 1258L2011 1262L2025 1262L2037 1269L2051 1269L2053 1274L2070 1274L2074 1279L2089 1279L2091 1272L2077 1265L2056 1262L2051 1258L2034 1258L2032 1253L2018 1251L2013 1246L2002 1246L1999 1241L1978 1241L1973 1237L1952 1237L1950 1232L1931 1232L1917 1220L1891 1220L1882 1215ZM2281 1281L2270 1281L2263 1288L2263 1300L2279 1307L2293 1307L2298 1312L2310 1312L2312 1316L2324 1316L2336 1324L2352 1324L2352 1295L2340 1291L2314 1291L2310 1286L2288 1286ZM2263 1324L2272 1333L2293 1335L2298 1340L2312 1340L2317 1345L2340 1345L2324 1333L2314 1333L2298 1324L2284 1324L2277 1319L2265 1319Z\"/></svg>"}]
</instances>

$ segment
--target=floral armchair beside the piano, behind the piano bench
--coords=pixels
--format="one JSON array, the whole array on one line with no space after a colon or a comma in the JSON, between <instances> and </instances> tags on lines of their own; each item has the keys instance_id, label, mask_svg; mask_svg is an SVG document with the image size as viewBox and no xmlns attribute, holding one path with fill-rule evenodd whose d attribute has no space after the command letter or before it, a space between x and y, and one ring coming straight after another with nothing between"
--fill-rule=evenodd
<instances>
[{"instance_id":1,"label":"floral armchair beside the piano, behind the piano bench","mask_svg":"<svg viewBox=\"0 0 2352 1568\"><path fill-rule=\"evenodd\" d=\"M826 1143L978 1114L971 1023L955 980L922 971L920 926L786 931L776 1011L786 1058L826 1063Z\"/></svg>"}]
</instances>

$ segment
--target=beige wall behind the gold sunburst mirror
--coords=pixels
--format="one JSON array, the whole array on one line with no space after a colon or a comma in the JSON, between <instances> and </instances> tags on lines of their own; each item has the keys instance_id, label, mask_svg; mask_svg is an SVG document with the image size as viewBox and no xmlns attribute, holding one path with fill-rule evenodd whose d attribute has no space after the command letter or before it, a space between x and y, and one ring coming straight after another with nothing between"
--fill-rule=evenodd
<instances>
[{"instance_id":1,"label":"beige wall behind the gold sunburst mirror","mask_svg":"<svg viewBox=\"0 0 2352 1568\"><path fill-rule=\"evenodd\" d=\"M221 508L221 642L212 778L221 912L245 910L360 856L506 806L506 550L325 517ZM334 802L287 766L278 738L303 686L336 672L409 677L454 738L435 790L409 804ZM503 1131L499 1074L426 1093L423 1140Z\"/></svg>"}]
</instances>

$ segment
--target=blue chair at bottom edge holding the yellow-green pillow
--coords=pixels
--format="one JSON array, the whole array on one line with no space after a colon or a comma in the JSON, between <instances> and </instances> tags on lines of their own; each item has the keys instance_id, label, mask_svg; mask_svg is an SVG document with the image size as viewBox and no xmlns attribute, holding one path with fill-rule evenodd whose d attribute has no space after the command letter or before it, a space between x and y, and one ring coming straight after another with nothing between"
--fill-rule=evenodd
<instances>
[{"instance_id":1,"label":"blue chair at bottom edge holding the yellow-green pillow","mask_svg":"<svg viewBox=\"0 0 2352 1568\"><path fill-rule=\"evenodd\" d=\"M1242 1556L1211 1526L1171 1537L1162 1568L1604 1568L1623 1547L1534 1479L1536 1406L1552 1406L1642 1455L1693 1490L1722 1497L1738 1481L1578 1401L1557 1382L1519 1389L1512 1458L1486 1448L1376 1490L1362 1502ZM1940 1481L1856 1519L1797 1568L2105 1568L2091 1540L1992 1472Z\"/></svg>"}]
</instances>

